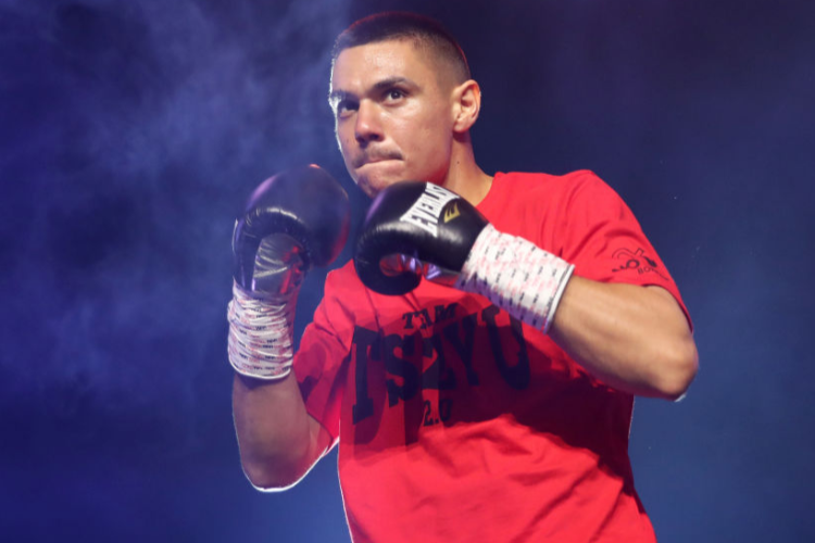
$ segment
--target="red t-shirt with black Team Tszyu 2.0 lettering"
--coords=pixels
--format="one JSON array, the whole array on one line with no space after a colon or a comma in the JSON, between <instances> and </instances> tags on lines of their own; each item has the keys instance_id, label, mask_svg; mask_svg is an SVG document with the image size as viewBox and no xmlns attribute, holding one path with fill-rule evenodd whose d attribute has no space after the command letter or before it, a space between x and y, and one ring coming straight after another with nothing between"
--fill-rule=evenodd
<instances>
[{"instance_id":1,"label":"red t-shirt with black Team Tszyu 2.0 lettering","mask_svg":"<svg viewBox=\"0 0 815 543\"><path fill-rule=\"evenodd\" d=\"M591 172L497 174L478 210L578 276L659 285L681 304ZM634 397L482 296L425 280L380 295L349 263L328 275L294 371L339 441L356 543L655 541L628 459Z\"/></svg>"}]
</instances>

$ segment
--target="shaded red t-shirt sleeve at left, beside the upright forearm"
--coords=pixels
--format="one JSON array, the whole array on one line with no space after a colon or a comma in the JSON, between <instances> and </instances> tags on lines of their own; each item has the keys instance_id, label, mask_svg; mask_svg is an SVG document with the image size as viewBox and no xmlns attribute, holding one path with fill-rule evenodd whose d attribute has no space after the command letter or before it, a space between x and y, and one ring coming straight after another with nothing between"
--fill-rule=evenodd
<instances>
[{"instance_id":1,"label":"shaded red t-shirt sleeve at left, beside the upright forearm","mask_svg":"<svg viewBox=\"0 0 815 543\"><path fill-rule=\"evenodd\" d=\"M328 274L323 301L294 355L294 375L305 409L328 431L333 443L339 438L347 362L353 337L353 315L340 302L338 275L339 272Z\"/></svg>"}]
</instances>

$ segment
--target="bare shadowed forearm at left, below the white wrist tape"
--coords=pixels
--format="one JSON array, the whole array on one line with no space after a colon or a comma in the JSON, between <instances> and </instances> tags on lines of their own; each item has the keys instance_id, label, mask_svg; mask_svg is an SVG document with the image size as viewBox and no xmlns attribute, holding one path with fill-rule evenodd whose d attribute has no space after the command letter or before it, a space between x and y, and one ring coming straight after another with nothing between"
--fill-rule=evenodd
<instances>
[{"instance_id":1,"label":"bare shadowed forearm at left, below the white wrist tape","mask_svg":"<svg viewBox=\"0 0 815 543\"><path fill-rule=\"evenodd\" d=\"M323 453L292 374L280 380L236 374L233 413L243 471L258 488L290 487Z\"/></svg>"}]
</instances>

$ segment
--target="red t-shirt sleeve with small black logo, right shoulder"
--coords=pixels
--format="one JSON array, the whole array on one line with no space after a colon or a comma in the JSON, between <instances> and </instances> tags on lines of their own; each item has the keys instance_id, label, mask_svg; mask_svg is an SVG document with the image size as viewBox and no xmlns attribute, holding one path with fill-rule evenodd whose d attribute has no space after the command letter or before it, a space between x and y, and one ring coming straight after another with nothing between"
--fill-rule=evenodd
<instances>
[{"instance_id":1,"label":"red t-shirt sleeve with small black logo, right shoulder","mask_svg":"<svg viewBox=\"0 0 815 543\"><path fill-rule=\"evenodd\" d=\"M691 324L665 264L611 187L591 172L576 173L561 210L565 225L561 256L575 265L575 275L601 282L662 287Z\"/></svg>"}]
</instances>

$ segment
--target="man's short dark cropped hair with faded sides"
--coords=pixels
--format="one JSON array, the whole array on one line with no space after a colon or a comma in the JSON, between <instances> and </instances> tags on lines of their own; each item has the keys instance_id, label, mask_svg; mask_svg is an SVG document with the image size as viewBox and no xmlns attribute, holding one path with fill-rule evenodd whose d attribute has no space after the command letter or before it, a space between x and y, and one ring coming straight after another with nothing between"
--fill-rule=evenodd
<instances>
[{"instance_id":1,"label":"man's short dark cropped hair with faded sides","mask_svg":"<svg viewBox=\"0 0 815 543\"><path fill-rule=\"evenodd\" d=\"M416 13L389 11L361 18L337 37L331 67L346 49L379 41L410 39L425 47L434 59L446 62L456 83L471 78L467 59L455 38L441 23Z\"/></svg>"}]
</instances>

